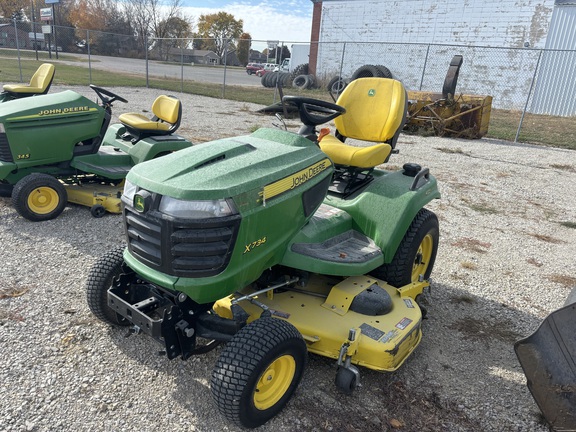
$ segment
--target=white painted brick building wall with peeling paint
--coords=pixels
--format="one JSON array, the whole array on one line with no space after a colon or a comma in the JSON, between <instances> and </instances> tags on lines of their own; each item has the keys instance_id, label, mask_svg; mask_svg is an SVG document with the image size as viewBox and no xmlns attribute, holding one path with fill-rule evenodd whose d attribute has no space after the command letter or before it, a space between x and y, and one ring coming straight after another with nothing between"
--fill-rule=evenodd
<instances>
[{"instance_id":1,"label":"white painted brick building wall with peeling paint","mask_svg":"<svg viewBox=\"0 0 576 432\"><path fill-rule=\"evenodd\" d=\"M523 109L553 11L554 0L323 0L316 72L381 64L409 89L440 92L461 54L458 92Z\"/></svg>"}]
</instances>

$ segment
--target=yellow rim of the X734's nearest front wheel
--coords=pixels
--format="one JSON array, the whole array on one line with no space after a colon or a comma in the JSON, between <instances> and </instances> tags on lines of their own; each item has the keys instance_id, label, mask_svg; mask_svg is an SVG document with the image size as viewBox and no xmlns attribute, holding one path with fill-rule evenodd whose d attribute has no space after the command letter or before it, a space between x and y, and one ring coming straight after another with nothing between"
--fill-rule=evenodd
<instances>
[{"instance_id":1,"label":"yellow rim of the X734's nearest front wheel","mask_svg":"<svg viewBox=\"0 0 576 432\"><path fill-rule=\"evenodd\" d=\"M265 410L274 406L284 396L296 373L296 361L291 355L274 360L264 371L254 391L254 406Z\"/></svg>"}]
</instances>

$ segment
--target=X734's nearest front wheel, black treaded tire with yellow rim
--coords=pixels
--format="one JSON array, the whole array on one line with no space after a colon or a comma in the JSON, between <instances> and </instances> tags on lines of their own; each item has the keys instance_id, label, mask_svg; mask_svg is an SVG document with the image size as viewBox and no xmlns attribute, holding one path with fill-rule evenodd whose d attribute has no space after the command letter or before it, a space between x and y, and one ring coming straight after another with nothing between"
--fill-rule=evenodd
<instances>
[{"instance_id":1,"label":"X734's nearest front wheel, black treaded tire with yellow rim","mask_svg":"<svg viewBox=\"0 0 576 432\"><path fill-rule=\"evenodd\" d=\"M306 358L302 335L289 322L260 318L250 323L228 342L214 366L211 389L218 410L242 427L266 423L292 397Z\"/></svg>"}]
</instances>

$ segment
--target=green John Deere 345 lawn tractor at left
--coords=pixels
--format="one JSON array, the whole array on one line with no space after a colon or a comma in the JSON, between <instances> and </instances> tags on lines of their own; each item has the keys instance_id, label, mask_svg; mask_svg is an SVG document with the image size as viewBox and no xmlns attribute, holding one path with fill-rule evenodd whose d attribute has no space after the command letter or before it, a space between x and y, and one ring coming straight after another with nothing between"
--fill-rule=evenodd
<instances>
[{"instance_id":1,"label":"green John Deere 345 lawn tractor at left","mask_svg":"<svg viewBox=\"0 0 576 432\"><path fill-rule=\"evenodd\" d=\"M154 118L128 113L110 125L112 103L126 99L90 87L101 104L70 90L0 104L0 192L26 219L55 218L68 201L95 217L120 213L122 183L134 165L192 145L174 133L178 99L159 96Z\"/></svg>"}]
</instances>

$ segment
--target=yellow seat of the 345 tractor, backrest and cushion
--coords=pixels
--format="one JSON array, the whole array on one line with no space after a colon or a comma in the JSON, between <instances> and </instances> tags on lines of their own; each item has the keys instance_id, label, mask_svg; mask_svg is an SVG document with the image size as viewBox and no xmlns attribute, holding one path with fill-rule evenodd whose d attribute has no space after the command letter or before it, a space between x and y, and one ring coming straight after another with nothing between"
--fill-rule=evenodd
<instances>
[{"instance_id":1,"label":"yellow seat of the 345 tractor, backrest and cushion","mask_svg":"<svg viewBox=\"0 0 576 432\"><path fill-rule=\"evenodd\" d=\"M152 104L151 119L140 113L121 114L118 119L136 139L174 133L182 119L182 104L174 96L161 95Z\"/></svg>"}]
</instances>

